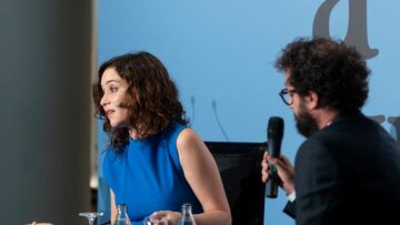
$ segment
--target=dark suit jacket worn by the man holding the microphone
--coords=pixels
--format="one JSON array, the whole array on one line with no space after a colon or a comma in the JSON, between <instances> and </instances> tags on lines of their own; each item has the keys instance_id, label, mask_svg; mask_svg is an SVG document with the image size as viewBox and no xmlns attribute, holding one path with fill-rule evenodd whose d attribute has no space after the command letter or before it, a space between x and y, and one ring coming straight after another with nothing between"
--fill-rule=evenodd
<instances>
[{"instance_id":1,"label":"dark suit jacket worn by the man holding the microphone","mask_svg":"<svg viewBox=\"0 0 400 225\"><path fill-rule=\"evenodd\" d=\"M294 171L297 225L400 224L399 145L361 113L304 141Z\"/></svg>"}]
</instances>

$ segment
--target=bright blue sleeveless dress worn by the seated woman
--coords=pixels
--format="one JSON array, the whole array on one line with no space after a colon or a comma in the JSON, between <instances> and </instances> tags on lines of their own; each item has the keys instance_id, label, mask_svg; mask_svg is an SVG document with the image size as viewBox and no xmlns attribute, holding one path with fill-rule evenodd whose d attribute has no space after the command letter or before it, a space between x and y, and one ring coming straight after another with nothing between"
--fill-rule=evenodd
<instances>
[{"instance_id":1,"label":"bright blue sleeveless dress worn by the seated woman","mask_svg":"<svg viewBox=\"0 0 400 225\"><path fill-rule=\"evenodd\" d=\"M128 206L132 224L141 224L156 211L180 212L183 203L191 203L193 213L202 213L178 157L177 139L183 129L170 124L144 140L129 139L121 154L106 153L103 175L116 204Z\"/></svg>"}]
</instances>

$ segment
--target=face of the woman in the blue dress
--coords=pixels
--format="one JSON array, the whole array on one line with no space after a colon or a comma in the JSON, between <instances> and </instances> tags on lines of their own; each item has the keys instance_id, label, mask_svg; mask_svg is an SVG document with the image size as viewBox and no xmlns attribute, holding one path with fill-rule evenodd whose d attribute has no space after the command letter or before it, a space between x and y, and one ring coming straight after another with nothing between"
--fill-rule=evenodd
<instances>
[{"instance_id":1,"label":"face of the woman in the blue dress","mask_svg":"<svg viewBox=\"0 0 400 225\"><path fill-rule=\"evenodd\" d=\"M111 126L126 126L128 120L127 81L118 74L114 68L108 68L101 76L100 84L103 90L100 104L104 109Z\"/></svg>"}]
</instances>

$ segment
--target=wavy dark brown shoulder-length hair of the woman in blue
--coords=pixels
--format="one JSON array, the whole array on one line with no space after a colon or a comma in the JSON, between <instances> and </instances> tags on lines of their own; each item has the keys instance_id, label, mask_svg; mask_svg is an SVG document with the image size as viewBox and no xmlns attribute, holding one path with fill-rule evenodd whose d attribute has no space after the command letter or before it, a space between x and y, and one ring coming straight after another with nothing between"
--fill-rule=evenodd
<instances>
[{"instance_id":1,"label":"wavy dark brown shoulder-length hair of the woman in blue","mask_svg":"<svg viewBox=\"0 0 400 225\"><path fill-rule=\"evenodd\" d=\"M112 127L100 104L103 91L101 76L113 68L127 81L128 127ZM99 80L92 86L96 115L104 121L103 130L110 137L112 149L123 147L129 140L129 129L134 129L139 139L146 139L166 129L171 122L188 124L178 89L166 67L149 52L128 53L104 62L98 72Z\"/></svg>"}]
</instances>

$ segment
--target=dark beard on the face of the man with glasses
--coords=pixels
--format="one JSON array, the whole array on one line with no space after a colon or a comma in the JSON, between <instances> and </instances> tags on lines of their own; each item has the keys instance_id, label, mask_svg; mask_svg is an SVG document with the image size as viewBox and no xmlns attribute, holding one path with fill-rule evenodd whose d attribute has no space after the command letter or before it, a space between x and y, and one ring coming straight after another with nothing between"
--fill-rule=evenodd
<instances>
[{"instance_id":1,"label":"dark beard on the face of the man with glasses","mask_svg":"<svg viewBox=\"0 0 400 225\"><path fill-rule=\"evenodd\" d=\"M318 131L318 124L310 113L307 112L303 102L300 102L299 106L299 114L294 114L296 126L301 135L309 137Z\"/></svg>"}]
</instances>

